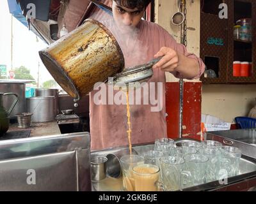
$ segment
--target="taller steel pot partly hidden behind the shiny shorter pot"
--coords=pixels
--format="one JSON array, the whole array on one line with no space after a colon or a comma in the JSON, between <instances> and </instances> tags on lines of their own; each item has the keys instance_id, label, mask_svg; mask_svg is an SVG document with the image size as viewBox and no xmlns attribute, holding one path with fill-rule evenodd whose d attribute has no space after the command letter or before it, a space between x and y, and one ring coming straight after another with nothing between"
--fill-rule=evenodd
<instances>
[{"instance_id":1,"label":"taller steel pot partly hidden behind the shiny shorter pot","mask_svg":"<svg viewBox=\"0 0 256 204\"><path fill-rule=\"evenodd\" d=\"M55 104L54 110L56 110L55 115L60 113L60 106L59 106L59 90L58 89L36 89L35 90L35 97L45 97L45 96L54 96Z\"/></svg>"}]
</instances>

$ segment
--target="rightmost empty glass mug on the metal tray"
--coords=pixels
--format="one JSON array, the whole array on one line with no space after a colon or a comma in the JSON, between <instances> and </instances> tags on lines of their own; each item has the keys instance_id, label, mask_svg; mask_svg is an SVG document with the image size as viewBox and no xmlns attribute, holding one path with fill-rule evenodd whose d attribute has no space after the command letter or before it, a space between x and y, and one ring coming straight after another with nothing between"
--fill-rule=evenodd
<instances>
[{"instance_id":1,"label":"rightmost empty glass mug on the metal tray","mask_svg":"<svg viewBox=\"0 0 256 204\"><path fill-rule=\"evenodd\" d=\"M220 171L227 172L228 177L234 177L239 173L239 161L242 152L237 147L221 147Z\"/></svg>"}]
</instances>

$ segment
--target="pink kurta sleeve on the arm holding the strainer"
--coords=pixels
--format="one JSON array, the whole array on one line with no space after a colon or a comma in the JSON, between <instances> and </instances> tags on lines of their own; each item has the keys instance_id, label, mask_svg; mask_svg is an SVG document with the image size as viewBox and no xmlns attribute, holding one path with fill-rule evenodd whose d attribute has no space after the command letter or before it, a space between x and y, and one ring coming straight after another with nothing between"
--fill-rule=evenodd
<instances>
[{"instance_id":1,"label":"pink kurta sleeve on the arm holding the strainer","mask_svg":"<svg viewBox=\"0 0 256 204\"><path fill-rule=\"evenodd\" d=\"M187 48L180 44L180 43L177 43L177 41L175 41L175 39L173 38L172 35L170 35L167 31L164 30L164 40L165 40L165 43L166 43L166 47L170 47L170 48L173 48L176 52L178 52L179 54L183 54L185 55L186 57L189 57L189 58L193 58L195 59L198 64L199 64L199 67L200 67L200 70L198 71L198 75L196 75L195 78L188 78L189 80L192 80L192 79L197 79L197 78L200 78L201 75L204 73L204 70L205 70L205 64L204 62L202 61L202 59L200 59L200 57L197 57L195 54L193 53L189 53ZM178 71L175 71L172 73L174 75L174 77L176 78L183 78L182 75L178 72Z\"/></svg>"}]
</instances>

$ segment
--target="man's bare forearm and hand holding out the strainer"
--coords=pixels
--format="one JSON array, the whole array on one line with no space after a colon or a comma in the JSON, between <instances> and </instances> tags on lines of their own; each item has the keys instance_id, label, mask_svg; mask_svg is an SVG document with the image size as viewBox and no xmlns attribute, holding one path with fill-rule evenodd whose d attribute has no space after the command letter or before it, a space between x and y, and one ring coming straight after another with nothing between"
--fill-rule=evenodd
<instances>
[{"instance_id":1,"label":"man's bare forearm and hand holding out the strainer","mask_svg":"<svg viewBox=\"0 0 256 204\"><path fill-rule=\"evenodd\" d=\"M201 67L197 59L187 57L173 50L163 47L154 57L163 57L153 68L161 68L170 73L179 73L180 77L193 79L200 76Z\"/></svg>"}]
</instances>

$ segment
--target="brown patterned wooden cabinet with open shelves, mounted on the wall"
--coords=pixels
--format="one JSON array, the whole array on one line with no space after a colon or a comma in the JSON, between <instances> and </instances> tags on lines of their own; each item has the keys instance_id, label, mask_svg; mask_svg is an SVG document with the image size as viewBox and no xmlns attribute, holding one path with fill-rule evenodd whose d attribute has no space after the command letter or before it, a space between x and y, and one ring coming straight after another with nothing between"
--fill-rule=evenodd
<instances>
[{"instance_id":1,"label":"brown patterned wooden cabinet with open shelves, mounted on the wall","mask_svg":"<svg viewBox=\"0 0 256 204\"><path fill-rule=\"evenodd\" d=\"M228 18L219 17L219 5L228 5ZM256 83L256 1L201 0L200 57L207 69L205 84ZM252 18L252 41L236 40L234 25ZM250 77L233 77L233 62L252 62Z\"/></svg>"}]
</instances>

